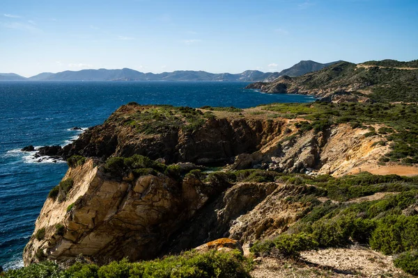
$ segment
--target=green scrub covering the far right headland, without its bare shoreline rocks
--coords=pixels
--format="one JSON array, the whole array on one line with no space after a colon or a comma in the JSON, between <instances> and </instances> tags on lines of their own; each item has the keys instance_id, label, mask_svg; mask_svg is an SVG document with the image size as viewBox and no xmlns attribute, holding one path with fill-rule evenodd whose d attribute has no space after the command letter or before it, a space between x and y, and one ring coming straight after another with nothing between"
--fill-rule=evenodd
<instances>
[{"instance_id":1,"label":"green scrub covering the far right headland, without its bare shoreline rocks","mask_svg":"<svg viewBox=\"0 0 418 278\"><path fill-rule=\"evenodd\" d=\"M406 63L394 60L370 61L364 65L376 65L376 67L366 68L341 62L318 72L285 80L282 78L281 83L272 83L269 86L284 87L285 90L288 88L291 91L302 88L302 90L330 90L337 93L345 93L344 90L357 87L359 91L369 90L371 94L350 92L351 95L366 96L374 101L383 102L416 102L418 99L417 63L417 60ZM400 70L396 67L412 67L415 70Z\"/></svg>"}]
</instances>

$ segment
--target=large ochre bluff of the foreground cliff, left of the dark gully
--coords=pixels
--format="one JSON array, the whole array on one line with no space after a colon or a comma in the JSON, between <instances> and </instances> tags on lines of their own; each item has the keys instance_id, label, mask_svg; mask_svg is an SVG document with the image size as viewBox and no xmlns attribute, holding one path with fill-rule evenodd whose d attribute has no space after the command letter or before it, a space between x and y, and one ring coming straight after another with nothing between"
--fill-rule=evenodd
<instances>
[{"instance_id":1,"label":"large ochre bluff of the foreground cliff, left of the dark gully","mask_svg":"<svg viewBox=\"0 0 418 278\"><path fill-rule=\"evenodd\" d=\"M161 173L130 181L109 179L91 160L70 169L68 178L74 186L65 201L48 198L42 208L34 234L45 229L45 237L32 236L24 252L26 265L42 256L65 261L79 254L98 263L125 256L153 259L171 234L225 189Z\"/></svg>"}]
</instances>

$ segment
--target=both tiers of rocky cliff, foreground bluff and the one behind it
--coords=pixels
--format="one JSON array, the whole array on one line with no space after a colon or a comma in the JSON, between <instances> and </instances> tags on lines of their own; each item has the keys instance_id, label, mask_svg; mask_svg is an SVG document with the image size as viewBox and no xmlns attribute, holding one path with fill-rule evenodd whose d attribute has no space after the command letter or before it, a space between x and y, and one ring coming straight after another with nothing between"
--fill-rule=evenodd
<instances>
[{"instance_id":1,"label":"both tiers of rocky cliff, foreground bluff and the one behind it","mask_svg":"<svg viewBox=\"0 0 418 278\"><path fill-rule=\"evenodd\" d=\"M388 152L366 129L302 130L301 122L308 123L262 107L122 106L61 150L88 158L71 163L50 193L24 263L79 254L98 263L152 259L222 237L249 244L288 229L309 204L284 199L310 189L277 179L246 182L237 170L341 175L376 165ZM189 172L213 163L228 171Z\"/></svg>"}]
</instances>

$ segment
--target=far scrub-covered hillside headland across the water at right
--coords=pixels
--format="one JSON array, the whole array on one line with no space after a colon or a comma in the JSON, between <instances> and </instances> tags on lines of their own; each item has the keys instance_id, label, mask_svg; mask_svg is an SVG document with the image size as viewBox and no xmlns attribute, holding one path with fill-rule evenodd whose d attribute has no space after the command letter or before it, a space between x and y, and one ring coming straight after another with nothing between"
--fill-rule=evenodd
<instances>
[{"instance_id":1,"label":"far scrub-covered hillside headland across the water at right","mask_svg":"<svg viewBox=\"0 0 418 278\"><path fill-rule=\"evenodd\" d=\"M340 62L298 77L281 76L271 83L247 86L268 93L297 93L332 101L405 101L418 99L416 61Z\"/></svg>"}]
</instances>

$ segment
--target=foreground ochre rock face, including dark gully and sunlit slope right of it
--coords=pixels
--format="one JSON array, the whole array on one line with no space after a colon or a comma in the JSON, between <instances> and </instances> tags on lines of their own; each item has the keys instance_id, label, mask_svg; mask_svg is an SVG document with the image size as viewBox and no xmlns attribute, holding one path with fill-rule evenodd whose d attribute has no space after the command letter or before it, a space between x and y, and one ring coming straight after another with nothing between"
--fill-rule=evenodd
<instances>
[{"instance_id":1,"label":"foreground ochre rock face, including dark gully and sunlit slope right of it","mask_svg":"<svg viewBox=\"0 0 418 278\"><path fill-rule=\"evenodd\" d=\"M24 251L25 265L45 258L68 261L79 254L96 263L153 259L222 237L248 243L286 230L302 208L284 199L304 190L192 176L177 181L161 173L111 179L92 160L70 168L69 178L74 186L66 199L45 202ZM41 229L45 236L37 238Z\"/></svg>"}]
</instances>

